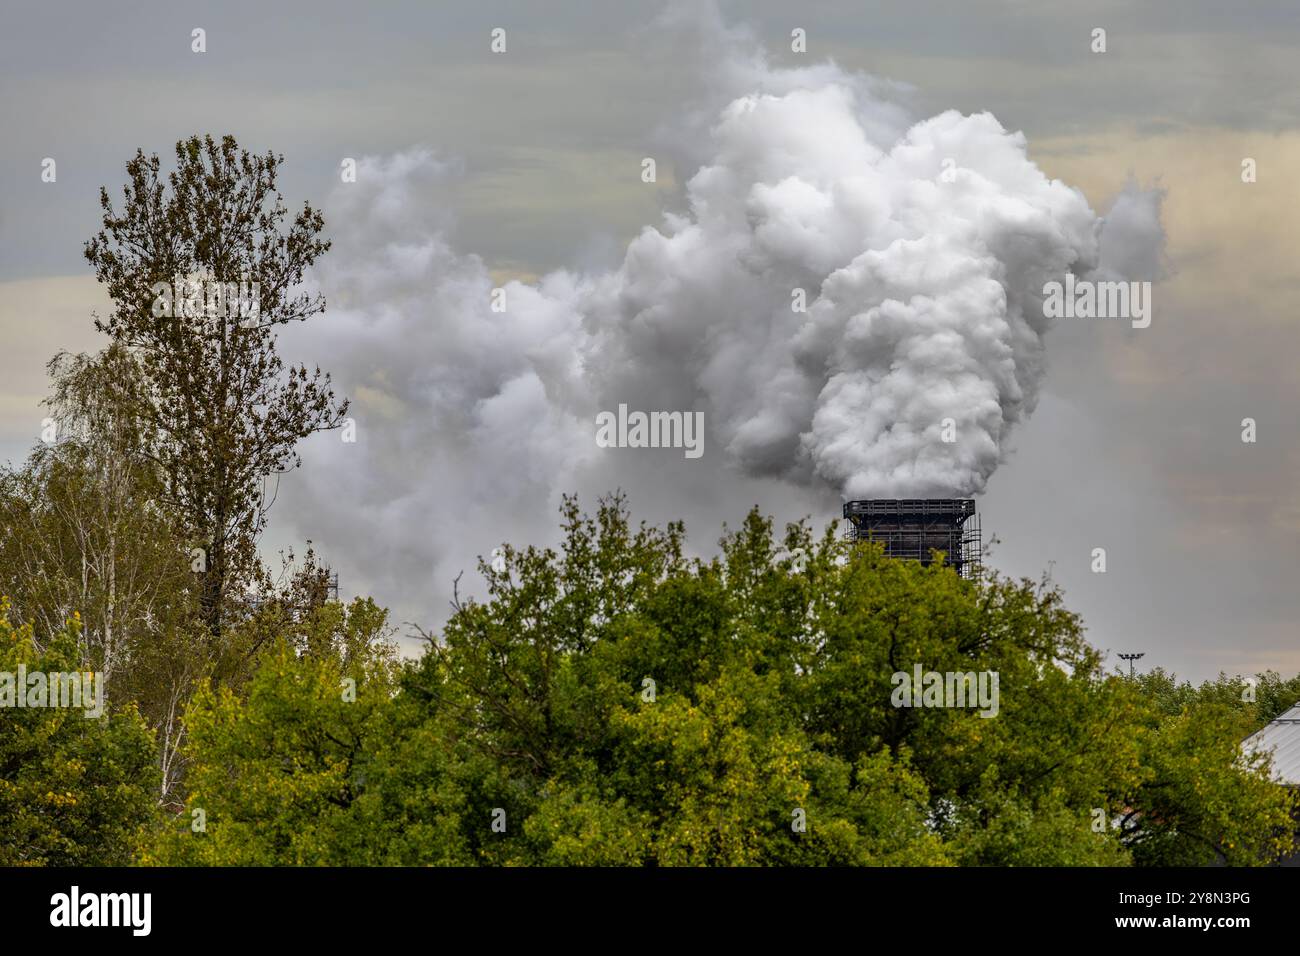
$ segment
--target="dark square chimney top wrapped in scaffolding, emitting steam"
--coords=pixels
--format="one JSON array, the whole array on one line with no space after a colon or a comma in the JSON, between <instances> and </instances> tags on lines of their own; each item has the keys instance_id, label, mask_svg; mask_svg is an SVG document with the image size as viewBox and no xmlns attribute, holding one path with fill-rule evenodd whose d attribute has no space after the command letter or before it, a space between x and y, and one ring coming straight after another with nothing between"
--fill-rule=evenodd
<instances>
[{"instance_id":1,"label":"dark square chimney top wrapped in scaffolding, emitting steam","mask_svg":"<svg viewBox=\"0 0 1300 956\"><path fill-rule=\"evenodd\" d=\"M879 541L892 558L928 564L931 551L962 578L980 567L980 525L970 498L871 498L846 501L850 541Z\"/></svg>"}]
</instances>

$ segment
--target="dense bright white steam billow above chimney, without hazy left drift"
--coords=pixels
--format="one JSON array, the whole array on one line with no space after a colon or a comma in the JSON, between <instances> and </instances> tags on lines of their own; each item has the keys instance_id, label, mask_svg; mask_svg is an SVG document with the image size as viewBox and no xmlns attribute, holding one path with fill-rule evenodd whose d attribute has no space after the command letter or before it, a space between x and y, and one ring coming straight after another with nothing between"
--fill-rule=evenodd
<instances>
[{"instance_id":1,"label":"dense bright white steam billow above chimney, without hazy left drift","mask_svg":"<svg viewBox=\"0 0 1300 956\"><path fill-rule=\"evenodd\" d=\"M987 113L874 143L863 108L828 82L723 111L690 216L577 302L599 389L702 403L750 473L971 494L1034 406L1043 284L1096 264L1096 216Z\"/></svg>"}]
</instances>

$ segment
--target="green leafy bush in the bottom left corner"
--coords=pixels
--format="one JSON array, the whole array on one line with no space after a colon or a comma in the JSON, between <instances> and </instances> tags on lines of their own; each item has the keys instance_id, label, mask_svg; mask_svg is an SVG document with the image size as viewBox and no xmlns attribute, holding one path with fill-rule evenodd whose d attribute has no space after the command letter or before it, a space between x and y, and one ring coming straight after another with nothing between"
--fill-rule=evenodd
<instances>
[{"instance_id":1,"label":"green leafy bush in the bottom left corner","mask_svg":"<svg viewBox=\"0 0 1300 956\"><path fill-rule=\"evenodd\" d=\"M79 622L43 649L0 601L0 672L78 670ZM133 705L0 708L0 866L122 866L151 822L153 740Z\"/></svg>"}]
</instances>

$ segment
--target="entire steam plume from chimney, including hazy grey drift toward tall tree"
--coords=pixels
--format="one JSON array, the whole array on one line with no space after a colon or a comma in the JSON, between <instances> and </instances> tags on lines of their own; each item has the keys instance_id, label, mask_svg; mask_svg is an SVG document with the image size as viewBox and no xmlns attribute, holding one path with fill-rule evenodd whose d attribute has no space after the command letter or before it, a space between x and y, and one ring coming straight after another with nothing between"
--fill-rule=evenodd
<instances>
[{"instance_id":1,"label":"entire steam plume from chimney, including hazy grey drift toward tall tree","mask_svg":"<svg viewBox=\"0 0 1300 956\"><path fill-rule=\"evenodd\" d=\"M311 444L291 507L369 583L441 593L469 555L547 537L566 490L979 493L1035 406L1044 282L1158 255L1158 195L1126 193L1112 238L991 114L911 122L867 78L770 68L706 27L731 55L707 133L698 111L679 126L686 207L614 271L510 282L494 312L485 264L446 238L434 153L364 160L333 196L311 347L359 440ZM598 447L619 405L702 411L703 464Z\"/></svg>"}]
</instances>

